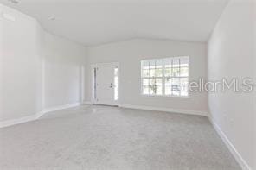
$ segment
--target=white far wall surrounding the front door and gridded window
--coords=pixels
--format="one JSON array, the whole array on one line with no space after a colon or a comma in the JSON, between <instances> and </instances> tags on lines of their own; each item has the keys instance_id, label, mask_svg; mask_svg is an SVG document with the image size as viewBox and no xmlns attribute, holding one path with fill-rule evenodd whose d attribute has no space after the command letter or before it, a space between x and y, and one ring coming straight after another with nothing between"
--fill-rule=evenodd
<instances>
[{"instance_id":1,"label":"white far wall surrounding the front door and gridded window","mask_svg":"<svg viewBox=\"0 0 256 170\"><path fill-rule=\"evenodd\" d=\"M201 77L206 78L207 75L206 50L204 43L137 39L88 47L88 63L120 63L120 104L206 112L208 110L206 93L191 93L189 98L167 98L145 97L140 91L140 60L189 55L190 80L197 80ZM87 86L90 87L90 84ZM87 100L90 100L90 88L87 89L87 94Z\"/></svg>"}]
</instances>

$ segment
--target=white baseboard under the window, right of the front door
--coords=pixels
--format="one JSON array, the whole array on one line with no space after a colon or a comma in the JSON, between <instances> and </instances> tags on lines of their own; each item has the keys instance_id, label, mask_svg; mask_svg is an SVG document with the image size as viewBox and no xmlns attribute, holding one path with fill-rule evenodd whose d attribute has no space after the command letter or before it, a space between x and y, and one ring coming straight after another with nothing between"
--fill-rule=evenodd
<instances>
[{"instance_id":1,"label":"white baseboard under the window, right of the front door","mask_svg":"<svg viewBox=\"0 0 256 170\"><path fill-rule=\"evenodd\" d=\"M176 110L171 108L151 107L151 106L131 105L131 104L120 104L119 107L137 109L137 110L155 110L155 111L165 111L165 112L182 113L182 114L189 114L189 115L208 116L208 113L206 111L197 111L197 110Z\"/></svg>"}]
</instances>

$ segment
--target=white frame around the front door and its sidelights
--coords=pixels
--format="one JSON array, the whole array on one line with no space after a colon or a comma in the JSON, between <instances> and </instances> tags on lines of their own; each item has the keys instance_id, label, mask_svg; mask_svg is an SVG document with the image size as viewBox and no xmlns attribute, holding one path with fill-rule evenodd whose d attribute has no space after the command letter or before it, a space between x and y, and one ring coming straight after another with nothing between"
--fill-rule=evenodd
<instances>
[{"instance_id":1,"label":"white frame around the front door and its sidelights","mask_svg":"<svg viewBox=\"0 0 256 170\"><path fill-rule=\"evenodd\" d=\"M113 106L119 106L120 101L120 65L119 62L104 62L104 63L93 63L91 64L91 104L97 104L95 97L95 91L94 91L94 68L97 66L104 66L104 65L112 65L118 67L118 100L116 100L113 104Z\"/></svg>"}]
</instances>

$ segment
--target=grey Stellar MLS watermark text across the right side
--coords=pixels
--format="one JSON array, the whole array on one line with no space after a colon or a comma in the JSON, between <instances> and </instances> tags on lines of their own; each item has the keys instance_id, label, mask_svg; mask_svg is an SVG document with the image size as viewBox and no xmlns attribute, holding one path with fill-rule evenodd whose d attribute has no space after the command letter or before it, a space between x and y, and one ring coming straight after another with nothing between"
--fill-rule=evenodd
<instances>
[{"instance_id":1,"label":"grey Stellar MLS watermark text across the right side","mask_svg":"<svg viewBox=\"0 0 256 170\"><path fill-rule=\"evenodd\" d=\"M256 80L252 78L233 78L221 79L218 81L207 81L199 79L199 81L192 81L189 83L189 91L191 92L226 92L234 91L240 93L253 92L256 87Z\"/></svg>"}]
</instances>

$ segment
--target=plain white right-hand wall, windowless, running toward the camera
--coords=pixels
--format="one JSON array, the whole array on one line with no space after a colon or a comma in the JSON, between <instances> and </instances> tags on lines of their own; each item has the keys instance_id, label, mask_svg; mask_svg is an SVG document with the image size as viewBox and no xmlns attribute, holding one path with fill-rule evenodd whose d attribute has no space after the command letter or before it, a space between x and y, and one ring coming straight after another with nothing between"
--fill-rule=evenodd
<instances>
[{"instance_id":1,"label":"plain white right-hand wall, windowless, running toward the camera","mask_svg":"<svg viewBox=\"0 0 256 170\"><path fill-rule=\"evenodd\" d=\"M247 3L246 3L247 2ZM251 1L252 2L252 1ZM208 79L253 78L255 63L253 3L231 0L208 41ZM254 94L255 95L255 94ZM209 110L236 150L256 169L255 100L253 93L210 93ZM253 155L254 154L254 155Z\"/></svg>"}]
</instances>

